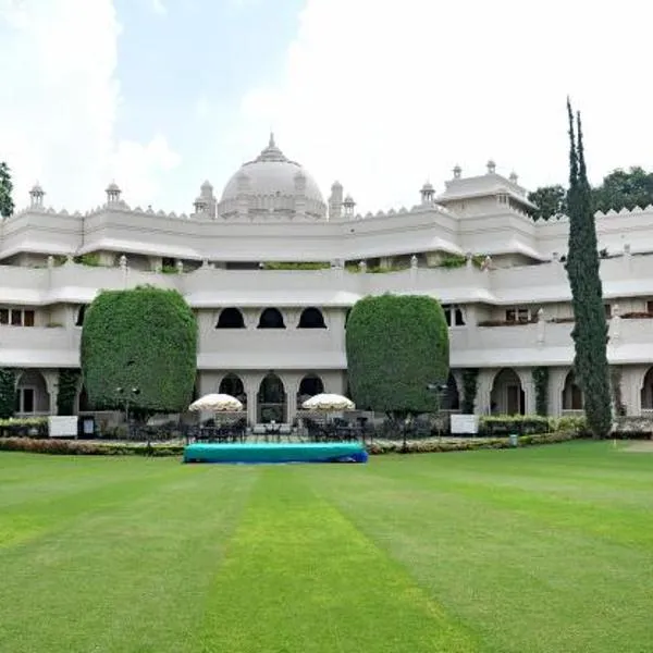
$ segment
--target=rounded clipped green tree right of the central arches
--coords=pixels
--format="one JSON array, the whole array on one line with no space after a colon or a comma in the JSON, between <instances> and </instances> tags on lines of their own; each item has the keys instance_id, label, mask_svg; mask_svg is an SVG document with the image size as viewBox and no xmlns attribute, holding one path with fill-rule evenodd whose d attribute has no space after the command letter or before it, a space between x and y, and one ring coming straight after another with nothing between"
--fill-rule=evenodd
<instances>
[{"instance_id":1,"label":"rounded clipped green tree right of the central arches","mask_svg":"<svg viewBox=\"0 0 653 653\"><path fill-rule=\"evenodd\" d=\"M366 297L347 321L347 362L354 402L394 417L428 412L438 397L427 386L446 383L448 329L432 297Z\"/></svg>"}]
</instances>

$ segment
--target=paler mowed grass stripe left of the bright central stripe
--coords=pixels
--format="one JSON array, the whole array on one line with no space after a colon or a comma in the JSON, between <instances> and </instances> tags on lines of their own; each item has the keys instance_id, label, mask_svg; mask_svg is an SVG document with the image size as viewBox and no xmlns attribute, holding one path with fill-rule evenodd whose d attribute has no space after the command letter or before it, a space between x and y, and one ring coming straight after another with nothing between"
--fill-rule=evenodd
<instances>
[{"instance_id":1,"label":"paler mowed grass stripe left of the bright central stripe","mask_svg":"<svg viewBox=\"0 0 653 653\"><path fill-rule=\"evenodd\" d=\"M197 651L192 631L258 471L140 460L137 492L123 463L95 470L114 501L81 500L74 519L64 502L61 528L0 550L2 653Z\"/></svg>"}]
</instances>

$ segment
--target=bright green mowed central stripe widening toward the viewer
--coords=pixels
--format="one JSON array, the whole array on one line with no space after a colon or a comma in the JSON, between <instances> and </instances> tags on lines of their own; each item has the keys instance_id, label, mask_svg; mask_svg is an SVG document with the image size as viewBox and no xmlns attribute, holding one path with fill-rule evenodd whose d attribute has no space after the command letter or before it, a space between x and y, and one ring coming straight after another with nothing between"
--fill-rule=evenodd
<instances>
[{"instance_id":1,"label":"bright green mowed central stripe widening toward the viewer","mask_svg":"<svg viewBox=\"0 0 653 653\"><path fill-rule=\"evenodd\" d=\"M311 491L311 469L262 469L197 625L199 650L477 651L401 565Z\"/></svg>"}]
</instances>

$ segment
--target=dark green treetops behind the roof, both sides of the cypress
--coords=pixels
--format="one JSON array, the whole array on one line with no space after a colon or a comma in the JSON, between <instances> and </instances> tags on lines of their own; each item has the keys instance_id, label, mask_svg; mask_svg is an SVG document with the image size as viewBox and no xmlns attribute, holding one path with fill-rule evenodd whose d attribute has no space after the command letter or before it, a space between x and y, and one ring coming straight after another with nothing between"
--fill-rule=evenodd
<instances>
[{"instance_id":1,"label":"dark green treetops behind the roof, both sides of the cypress","mask_svg":"<svg viewBox=\"0 0 653 653\"><path fill-rule=\"evenodd\" d=\"M568 193L568 189L559 184L541 186L529 193L528 199L538 206L533 219L550 220L567 214ZM590 200L592 211L604 213L611 209L643 209L653 205L653 173L637 165L628 171L618 168L604 176L599 186L590 189Z\"/></svg>"}]
</instances>

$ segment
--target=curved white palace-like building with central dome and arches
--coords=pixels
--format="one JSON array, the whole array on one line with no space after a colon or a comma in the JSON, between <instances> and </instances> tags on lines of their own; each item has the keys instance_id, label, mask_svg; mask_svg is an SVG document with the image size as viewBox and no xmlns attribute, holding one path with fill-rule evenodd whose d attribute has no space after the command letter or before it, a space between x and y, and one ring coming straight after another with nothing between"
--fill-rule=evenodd
<instances>
[{"instance_id":1,"label":"curved white palace-like building with central dome and arches","mask_svg":"<svg viewBox=\"0 0 653 653\"><path fill-rule=\"evenodd\" d=\"M347 310L384 292L445 306L454 407L463 370L478 368L477 412L534 412L532 370L545 366L550 412L581 408L567 220L533 222L517 176L492 161L479 176L456 167L441 195L427 183L412 208L375 215L357 214L337 182L325 200L273 138L220 197L202 184L189 215L131 208L115 184L85 214L47 209L44 195L35 186L0 232L0 367L21 371L20 414L56 410L58 370L78 368L98 289L146 283L177 288L197 313L197 392L245 395L251 423L292 421L307 395L346 392ZM596 227L608 358L627 412L640 415L653 409L653 207L599 213Z\"/></svg>"}]
</instances>

